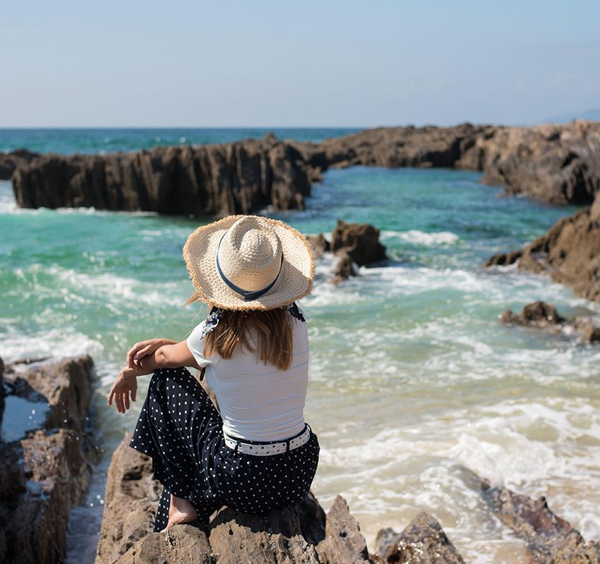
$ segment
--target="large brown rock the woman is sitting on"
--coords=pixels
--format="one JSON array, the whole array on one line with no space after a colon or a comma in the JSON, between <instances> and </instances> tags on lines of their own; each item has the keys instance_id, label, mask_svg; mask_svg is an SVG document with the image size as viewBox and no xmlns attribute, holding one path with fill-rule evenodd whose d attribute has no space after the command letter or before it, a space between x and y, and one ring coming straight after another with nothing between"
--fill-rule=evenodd
<instances>
[{"instance_id":1,"label":"large brown rock the woman is sitting on","mask_svg":"<svg viewBox=\"0 0 600 564\"><path fill-rule=\"evenodd\" d=\"M187 562L194 544L199 560L193 562L212 562L203 558L215 555L219 563L318 563L313 544L325 538L325 513L313 494L265 517L222 508L208 539L192 525L152 532L162 485L153 478L152 459L128 446L131 436L124 436L109 467L96 564Z\"/></svg>"}]
</instances>

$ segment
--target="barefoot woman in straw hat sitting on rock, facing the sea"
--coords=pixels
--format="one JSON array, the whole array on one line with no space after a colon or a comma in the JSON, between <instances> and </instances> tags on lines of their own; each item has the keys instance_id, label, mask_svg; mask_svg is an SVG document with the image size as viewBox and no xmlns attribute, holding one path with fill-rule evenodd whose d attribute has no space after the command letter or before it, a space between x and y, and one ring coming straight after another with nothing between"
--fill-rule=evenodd
<instances>
[{"instance_id":1,"label":"barefoot woman in straw hat sitting on rock, facing the sea","mask_svg":"<svg viewBox=\"0 0 600 564\"><path fill-rule=\"evenodd\" d=\"M109 393L124 413L136 377L152 374L129 446L152 457L163 484L155 531L222 505L262 515L304 499L319 444L304 422L308 333L295 300L311 291L313 252L286 223L229 216L193 231L186 305L210 314L185 341L136 343ZM201 369L220 413L185 367ZM203 374L200 375L202 379Z\"/></svg>"}]
</instances>

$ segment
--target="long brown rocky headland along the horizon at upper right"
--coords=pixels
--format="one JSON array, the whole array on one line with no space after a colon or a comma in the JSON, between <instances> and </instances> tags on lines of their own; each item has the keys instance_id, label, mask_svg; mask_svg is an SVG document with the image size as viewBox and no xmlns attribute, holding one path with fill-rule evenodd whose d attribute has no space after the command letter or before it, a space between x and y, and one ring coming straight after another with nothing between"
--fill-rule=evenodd
<instances>
[{"instance_id":1,"label":"long brown rocky headland along the horizon at upper right","mask_svg":"<svg viewBox=\"0 0 600 564\"><path fill-rule=\"evenodd\" d=\"M504 185L508 194L557 204L591 203L600 190L600 123L593 121L377 128L295 145L317 173L356 164L467 168L483 171L484 183Z\"/></svg>"}]
</instances>

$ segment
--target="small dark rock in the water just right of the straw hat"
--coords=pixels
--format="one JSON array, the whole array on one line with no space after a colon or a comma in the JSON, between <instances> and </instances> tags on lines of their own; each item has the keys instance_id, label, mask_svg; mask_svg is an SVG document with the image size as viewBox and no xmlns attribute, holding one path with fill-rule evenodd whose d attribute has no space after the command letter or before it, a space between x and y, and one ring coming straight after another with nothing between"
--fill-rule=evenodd
<instances>
[{"instance_id":1,"label":"small dark rock in the water just right of the straw hat","mask_svg":"<svg viewBox=\"0 0 600 564\"><path fill-rule=\"evenodd\" d=\"M346 223L338 219L331 234L331 250L337 253L342 249L359 266L387 258L385 247L379 243L379 230L370 223Z\"/></svg>"}]
</instances>

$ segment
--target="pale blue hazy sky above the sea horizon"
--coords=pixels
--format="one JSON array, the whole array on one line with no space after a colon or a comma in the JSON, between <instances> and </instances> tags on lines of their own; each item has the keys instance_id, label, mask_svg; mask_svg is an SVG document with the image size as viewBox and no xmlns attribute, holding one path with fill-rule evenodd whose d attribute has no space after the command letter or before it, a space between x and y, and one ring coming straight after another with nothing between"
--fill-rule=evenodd
<instances>
[{"instance_id":1,"label":"pale blue hazy sky above the sea horizon","mask_svg":"<svg viewBox=\"0 0 600 564\"><path fill-rule=\"evenodd\" d=\"M600 2L6 2L0 128L541 123L600 107Z\"/></svg>"}]
</instances>

